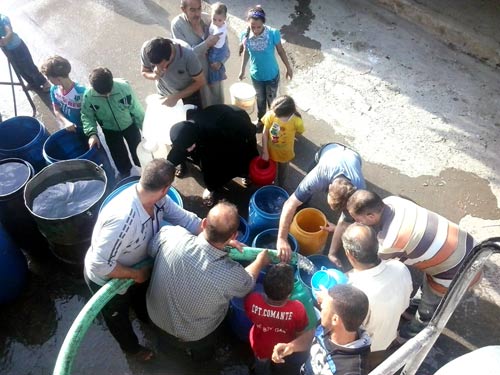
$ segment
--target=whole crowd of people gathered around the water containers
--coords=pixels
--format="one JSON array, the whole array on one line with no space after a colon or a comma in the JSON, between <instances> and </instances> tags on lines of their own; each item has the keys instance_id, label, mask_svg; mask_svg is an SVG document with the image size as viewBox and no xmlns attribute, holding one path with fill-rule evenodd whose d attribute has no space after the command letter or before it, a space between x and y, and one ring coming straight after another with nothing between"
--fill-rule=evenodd
<instances>
[{"instance_id":1,"label":"whole crowd of people gathered around the water containers","mask_svg":"<svg viewBox=\"0 0 500 375\"><path fill-rule=\"evenodd\" d=\"M127 354L142 361L153 358L134 333L129 316L133 308L141 321L157 328L162 341L185 349L195 361L208 360L229 301L245 297L254 324L250 344L255 373L365 373L373 365L370 356L380 362L397 342L428 324L474 239L410 200L381 199L365 190L360 155L328 143L311 158L311 170L284 203L276 243L282 263L268 269L262 293L252 292L270 259L263 251L243 267L228 257L228 247L243 246L236 240L239 214L232 203L214 205L213 193L234 177L251 183L248 168L259 155L256 133L261 131L262 158L278 163L276 183L284 185L295 156L295 136L304 132L304 124L293 98L277 95L276 52L287 78L293 70L280 32L265 24L261 6L251 8L247 30L240 35L239 78L245 77L250 62L258 108L254 125L244 110L224 104L225 62L230 57L226 6L213 4L210 17L202 12L201 0L182 0L181 10L171 24L172 38L143 44L141 74L155 82L164 105L181 100L197 110L171 128L167 159L143 166L136 148L144 110L131 85L98 67L85 88L70 79L71 65L61 56L49 58L38 71L9 19L0 15L1 47L30 88L48 90L52 83L53 110L65 129L85 134L89 147L100 147L100 126L120 178L133 165L142 167L139 182L100 212L85 257L84 276L93 293L112 278L135 281L102 310L110 333ZM174 178L186 173L187 161L202 171L203 199L213 205L206 218L180 208L166 195ZM336 267L350 269L349 283L319 292L317 327L306 329L310 322L304 306L289 300L294 275L287 265L288 234L297 209L318 194L326 194L332 212L339 215L336 224L322 230L332 233L328 257ZM163 221L170 225L162 227ZM134 267L146 259L153 259L153 266ZM413 287L408 267L423 273L420 288Z\"/></svg>"}]
</instances>

